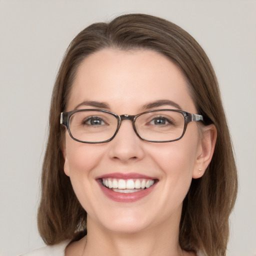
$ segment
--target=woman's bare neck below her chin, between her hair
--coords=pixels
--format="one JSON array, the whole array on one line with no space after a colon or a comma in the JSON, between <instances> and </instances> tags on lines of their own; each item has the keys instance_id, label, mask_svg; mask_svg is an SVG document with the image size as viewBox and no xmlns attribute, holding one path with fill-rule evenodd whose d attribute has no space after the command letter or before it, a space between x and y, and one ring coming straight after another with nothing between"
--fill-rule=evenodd
<instances>
[{"instance_id":1,"label":"woman's bare neck below her chin, between her hair","mask_svg":"<svg viewBox=\"0 0 256 256\"><path fill-rule=\"evenodd\" d=\"M113 232L87 219L87 237L82 256L182 256L178 243L179 221L164 222L139 232ZM85 244L86 242L86 244ZM184 254L185 255L185 254Z\"/></svg>"}]
</instances>

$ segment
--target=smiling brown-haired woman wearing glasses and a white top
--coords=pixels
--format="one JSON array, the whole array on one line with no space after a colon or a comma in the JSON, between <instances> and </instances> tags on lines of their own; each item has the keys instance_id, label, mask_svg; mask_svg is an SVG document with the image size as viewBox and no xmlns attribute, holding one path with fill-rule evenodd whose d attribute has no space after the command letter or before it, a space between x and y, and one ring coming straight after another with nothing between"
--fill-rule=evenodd
<instances>
[{"instance_id":1,"label":"smiling brown-haired woman wearing glasses and a white top","mask_svg":"<svg viewBox=\"0 0 256 256\"><path fill-rule=\"evenodd\" d=\"M38 210L52 246L28 255L225 255L236 190L217 80L187 32L127 14L73 39Z\"/></svg>"}]
</instances>

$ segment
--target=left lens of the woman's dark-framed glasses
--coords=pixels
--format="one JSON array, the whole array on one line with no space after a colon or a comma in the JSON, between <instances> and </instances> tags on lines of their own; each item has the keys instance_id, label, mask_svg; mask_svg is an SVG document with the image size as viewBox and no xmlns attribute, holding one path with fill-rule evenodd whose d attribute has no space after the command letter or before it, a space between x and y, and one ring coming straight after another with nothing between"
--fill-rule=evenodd
<instances>
[{"instance_id":1,"label":"left lens of the woman's dark-framed glasses","mask_svg":"<svg viewBox=\"0 0 256 256\"><path fill-rule=\"evenodd\" d=\"M114 115L103 111L83 110L70 116L72 136L84 142L100 142L111 138L117 128Z\"/></svg>"}]
</instances>

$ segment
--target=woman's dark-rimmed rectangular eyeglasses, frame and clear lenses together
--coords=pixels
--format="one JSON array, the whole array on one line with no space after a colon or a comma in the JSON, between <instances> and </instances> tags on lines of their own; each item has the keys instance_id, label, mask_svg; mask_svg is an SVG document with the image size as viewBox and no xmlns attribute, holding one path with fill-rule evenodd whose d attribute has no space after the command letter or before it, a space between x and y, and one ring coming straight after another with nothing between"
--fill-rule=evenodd
<instances>
[{"instance_id":1,"label":"woman's dark-rimmed rectangular eyeglasses, frame and clear lenses together","mask_svg":"<svg viewBox=\"0 0 256 256\"><path fill-rule=\"evenodd\" d=\"M132 121L137 136L149 142L170 142L182 138L188 122L202 121L199 114L177 109L155 109L136 115L118 115L102 109L78 109L62 112L60 124L72 139L82 143L112 140L123 120Z\"/></svg>"}]
</instances>

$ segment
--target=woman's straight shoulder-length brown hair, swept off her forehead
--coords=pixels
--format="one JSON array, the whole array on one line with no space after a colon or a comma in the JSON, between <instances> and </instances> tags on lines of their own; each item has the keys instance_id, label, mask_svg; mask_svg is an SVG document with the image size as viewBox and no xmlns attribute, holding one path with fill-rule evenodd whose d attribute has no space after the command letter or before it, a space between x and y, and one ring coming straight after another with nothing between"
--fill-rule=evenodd
<instances>
[{"instance_id":1,"label":"woman's straight shoulder-length brown hair, swept off her forehead","mask_svg":"<svg viewBox=\"0 0 256 256\"><path fill-rule=\"evenodd\" d=\"M79 204L69 177L63 171L60 112L65 110L77 67L99 49L146 48L160 52L174 62L189 84L205 124L213 123L217 141L204 175L193 179L184 199L179 242L185 250L206 255L225 255L228 217L237 192L236 167L230 135L214 70L203 49L179 26L145 14L126 14L108 23L94 23L82 30L68 46L52 92L49 135L41 177L38 228L46 244L75 238L86 232L86 212Z\"/></svg>"}]
</instances>

